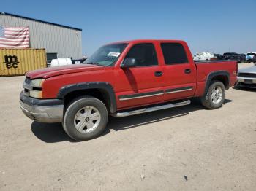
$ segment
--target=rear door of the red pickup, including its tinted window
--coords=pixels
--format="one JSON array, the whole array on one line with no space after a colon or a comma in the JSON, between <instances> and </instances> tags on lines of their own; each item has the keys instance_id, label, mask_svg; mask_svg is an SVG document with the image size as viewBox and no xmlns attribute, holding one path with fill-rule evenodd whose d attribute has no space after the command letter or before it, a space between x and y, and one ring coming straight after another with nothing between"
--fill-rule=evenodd
<instances>
[{"instance_id":1,"label":"rear door of the red pickup, including its tinted window","mask_svg":"<svg viewBox=\"0 0 256 191\"><path fill-rule=\"evenodd\" d=\"M187 44L162 42L160 47L164 58L165 101L191 97L195 93L197 70L192 58L188 58Z\"/></svg>"}]
</instances>

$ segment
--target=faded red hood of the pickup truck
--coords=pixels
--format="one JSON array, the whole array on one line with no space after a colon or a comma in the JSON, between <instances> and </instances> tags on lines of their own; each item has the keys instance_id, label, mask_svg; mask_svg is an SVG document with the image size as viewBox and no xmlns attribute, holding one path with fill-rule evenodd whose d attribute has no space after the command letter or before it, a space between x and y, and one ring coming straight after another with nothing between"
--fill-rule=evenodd
<instances>
[{"instance_id":1,"label":"faded red hood of the pickup truck","mask_svg":"<svg viewBox=\"0 0 256 191\"><path fill-rule=\"evenodd\" d=\"M34 71L29 71L26 73L26 77L30 79L35 78L49 78L55 77L63 74L71 74L71 73L78 73L83 71L95 71L95 70L104 70L104 66L96 66L91 64L74 64L68 66L57 66L57 67L50 67L46 69L39 69Z\"/></svg>"}]
</instances>

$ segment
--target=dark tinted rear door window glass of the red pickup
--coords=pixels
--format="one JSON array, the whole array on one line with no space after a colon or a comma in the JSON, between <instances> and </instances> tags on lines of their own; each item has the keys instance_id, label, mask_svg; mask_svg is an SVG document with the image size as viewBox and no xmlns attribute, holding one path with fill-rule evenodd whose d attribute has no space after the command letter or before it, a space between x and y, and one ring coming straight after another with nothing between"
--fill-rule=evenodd
<instances>
[{"instance_id":1,"label":"dark tinted rear door window glass of the red pickup","mask_svg":"<svg viewBox=\"0 0 256 191\"><path fill-rule=\"evenodd\" d=\"M179 43L161 43L162 53L165 58L165 64L187 63L187 54L182 44Z\"/></svg>"}]
</instances>

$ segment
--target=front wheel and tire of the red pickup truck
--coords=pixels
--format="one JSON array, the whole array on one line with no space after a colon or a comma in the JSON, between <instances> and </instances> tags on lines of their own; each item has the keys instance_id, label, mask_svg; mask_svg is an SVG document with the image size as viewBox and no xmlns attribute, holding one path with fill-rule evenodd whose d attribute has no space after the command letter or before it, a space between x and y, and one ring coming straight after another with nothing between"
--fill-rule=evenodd
<instances>
[{"instance_id":1,"label":"front wheel and tire of the red pickup truck","mask_svg":"<svg viewBox=\"0 0 256 191\"><path fill-rule=\"evenodd\" d=\"M108 123L108 110L97 98L83 96L67 105L63 128L76 141L86 141L99 136Z\"/></svg>"}]
</instances>

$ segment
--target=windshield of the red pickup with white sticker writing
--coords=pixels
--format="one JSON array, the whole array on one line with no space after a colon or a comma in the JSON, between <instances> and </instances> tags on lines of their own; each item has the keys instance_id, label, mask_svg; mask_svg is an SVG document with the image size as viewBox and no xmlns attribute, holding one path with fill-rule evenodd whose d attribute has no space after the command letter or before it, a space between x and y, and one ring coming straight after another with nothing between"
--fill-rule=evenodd
<instances>
[{"instance_id":1,"label":"windshield of the red pickup with white sticker writing","mask_svg":"<svg viewBox=\"0 0 256 191\"><path fill-rule=\"evenodd\" d=\"M83 63L96 64L99 66L113 66L121 55L121 52L124 51L125 47L127 47L126 43L105 45L100 47Z\"/></svg>"}]
</instances>

